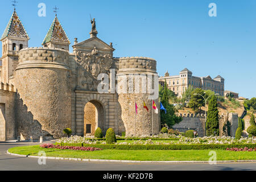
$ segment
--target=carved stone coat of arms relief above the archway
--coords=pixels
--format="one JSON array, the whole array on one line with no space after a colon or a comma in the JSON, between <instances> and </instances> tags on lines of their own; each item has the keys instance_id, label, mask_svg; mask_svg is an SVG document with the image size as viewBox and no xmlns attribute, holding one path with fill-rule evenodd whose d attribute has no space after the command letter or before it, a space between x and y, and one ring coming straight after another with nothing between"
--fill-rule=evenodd
<instances>
[{"instance_id":1,"label":"carved stone coat of arms relief above the archway","mask_svg":"<svg viewBox=\"0 0 256 182\"><path fill-rule=\"evenodd\" d=\"M82 89L96 91L98 75L106 73L109 75L112 67L113 57L110 54L100 55L96 47L91 53L77 52L76 61L80 65L77 77L77 84Z\"/></svg>"}]
</instances>

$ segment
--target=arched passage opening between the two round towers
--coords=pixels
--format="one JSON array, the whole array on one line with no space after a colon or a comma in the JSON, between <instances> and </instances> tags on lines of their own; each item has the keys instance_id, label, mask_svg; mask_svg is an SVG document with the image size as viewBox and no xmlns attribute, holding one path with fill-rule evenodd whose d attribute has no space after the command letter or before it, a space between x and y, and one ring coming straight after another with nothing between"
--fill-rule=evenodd
<instances>
[{"instance_id":1,"label":"arched passage opening between the two round towers","mask_svg":"<svg viewBox=\"0 0 256 182\"><path fill-rule=\"evenodd\" d=\"M99 101L92 100L84 107L84 136L94 135L98 127L105 130L104 107Z\"/></svg>"}]
</instances>

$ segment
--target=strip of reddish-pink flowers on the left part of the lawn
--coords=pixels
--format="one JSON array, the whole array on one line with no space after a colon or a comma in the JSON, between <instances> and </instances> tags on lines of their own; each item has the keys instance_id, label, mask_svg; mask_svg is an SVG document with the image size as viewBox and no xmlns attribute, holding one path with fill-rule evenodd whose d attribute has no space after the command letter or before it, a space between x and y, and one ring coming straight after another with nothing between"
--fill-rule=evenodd
<instances>
[{"instance_id":1,"label":"strip of reddish-pink flowers on the left part of the lawn","mask_svg":"<svg viewBox=\"0 0 256 182\"><path fill-rule=\"evenodd\" d=\"M40 145L42 148L57 148L62 150L81 150L81 151L96 151L102 150L101 148L96 147L79 147L79 146L60 146L59 144L55 145L52 143L42 144Z\"/></svg>"}]
</instances>

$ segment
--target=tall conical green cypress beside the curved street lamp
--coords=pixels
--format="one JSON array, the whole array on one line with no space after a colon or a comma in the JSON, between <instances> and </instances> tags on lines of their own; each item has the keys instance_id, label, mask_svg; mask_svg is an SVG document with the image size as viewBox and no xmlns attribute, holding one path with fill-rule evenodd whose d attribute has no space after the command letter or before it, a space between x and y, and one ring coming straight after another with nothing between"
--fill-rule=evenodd
<instances>
[{"instance_id":1,"label":"tall conical green cypress beside the curved street lamp","mask_svg":"<svg viewBox=\"0 0 256 182\"><path fill-rule=\"evenodd\" d=\"M218 107L216 96L212 96L209 101L208 115L206 122L207 136L219 135Z\"/></svg>"}]
</instances>

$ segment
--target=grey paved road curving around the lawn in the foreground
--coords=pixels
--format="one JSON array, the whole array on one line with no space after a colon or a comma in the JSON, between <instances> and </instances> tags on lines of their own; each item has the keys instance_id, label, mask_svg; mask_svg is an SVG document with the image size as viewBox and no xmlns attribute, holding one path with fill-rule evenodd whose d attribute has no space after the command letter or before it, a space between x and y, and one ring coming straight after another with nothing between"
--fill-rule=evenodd
<instances>
[{"instance_id":1,"label":"grey paved road curving around the lawn in the foreground","mask_svg":"<svg viewBox=\"0 0 256 182\"><path fill-rule=\"evenodd\" d=\"M0 143L0 170L8 171L204 171L204 170L256 170L256 163L224 163L210 164L123 164L123 163L93 163L66 160L46 160L46 165L39 165L38 159L22 158L7 155L8 148L28 146L29 143Z\"/></svg>"}]
</instances>

